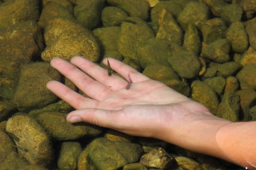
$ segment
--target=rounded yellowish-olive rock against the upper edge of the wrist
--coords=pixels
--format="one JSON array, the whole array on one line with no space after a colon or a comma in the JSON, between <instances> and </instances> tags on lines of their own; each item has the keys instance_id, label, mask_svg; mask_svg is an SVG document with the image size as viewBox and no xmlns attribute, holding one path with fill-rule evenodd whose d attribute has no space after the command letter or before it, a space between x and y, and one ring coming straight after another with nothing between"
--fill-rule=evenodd
<instances>
[{"instance_id":1,"label":"rounded yellowish-olive rock against the upper edge of the wrist","mask_svg":"<svg viewBox=\"0 0 256 170\"><path fill-rule=\"evenodd\" d=\"M205 83L195 80L191 84L191 97L194 101L205 105L210 109L211 113L217 114L218 98L217 94L210 86Z\"/></svg>"}]
</instances>

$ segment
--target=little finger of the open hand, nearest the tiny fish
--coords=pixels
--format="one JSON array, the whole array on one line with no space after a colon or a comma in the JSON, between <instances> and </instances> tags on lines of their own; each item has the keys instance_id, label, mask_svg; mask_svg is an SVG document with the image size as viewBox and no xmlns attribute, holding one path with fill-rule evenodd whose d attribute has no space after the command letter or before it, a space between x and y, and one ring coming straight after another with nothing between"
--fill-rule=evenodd
<instances>
[{"instance_id":1,"label":"little finger of the open hand, nearest the tiny fish","mask_svg":"<svg viewBox=\"0 0 256 170\"><path fill-rule=\"evenodd\" d=\"M136 69L124 64L119 60L116 60L114 58L108 58L108 60L111 63L111 67L130 83L137 83L150 80L150 78L148 78L147 76L141 74ZM107 65L106 58L103 60L103 64Z\"/></svg>"}]
</instances>

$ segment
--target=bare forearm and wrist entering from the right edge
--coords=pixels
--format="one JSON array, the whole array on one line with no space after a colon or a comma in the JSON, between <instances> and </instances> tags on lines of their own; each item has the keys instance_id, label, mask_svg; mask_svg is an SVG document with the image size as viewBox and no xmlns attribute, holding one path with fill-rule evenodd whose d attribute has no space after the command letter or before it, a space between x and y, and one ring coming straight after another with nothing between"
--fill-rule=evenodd
<instances>
[{"instance_id":1,"label":"bare forearm and wrist entering from the right edge","mask_svg":"<svg viewBox=\"0 0 256 170\"><path fill-rule=\"evenodd\" d=\"M256 122L232 123L205 115L175 128L166 131L169 135L158 138L251 169L249 163L256 164Z\"/></svg>"}]
</instances>

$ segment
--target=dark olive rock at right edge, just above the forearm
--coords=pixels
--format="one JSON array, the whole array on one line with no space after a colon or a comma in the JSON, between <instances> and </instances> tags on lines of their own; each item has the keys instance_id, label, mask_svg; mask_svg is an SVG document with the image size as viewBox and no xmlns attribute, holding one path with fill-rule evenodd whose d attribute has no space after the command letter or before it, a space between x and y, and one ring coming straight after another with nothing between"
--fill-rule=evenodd
<instances>
[{"instance_id":1,"label":"dark olive rock at right edge, just above the forearm","mask_svg":"<svg viewBox=\"0 0 256 170\"><path fill-rule=\"evenodd\" d=\"M250 121L250 108L256 104L256 91L253 89L243 89L237 91L240 98L240 106L243 113L243 121Z\"/></svg>"}]
</instances>

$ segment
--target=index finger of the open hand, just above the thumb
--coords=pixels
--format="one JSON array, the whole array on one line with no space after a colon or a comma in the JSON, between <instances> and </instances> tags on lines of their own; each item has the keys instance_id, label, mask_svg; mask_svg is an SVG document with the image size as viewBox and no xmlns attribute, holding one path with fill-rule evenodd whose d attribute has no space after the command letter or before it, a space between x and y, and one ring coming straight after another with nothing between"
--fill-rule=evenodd
<instances>
[{"instance_id":1,"label":"index finger of the open hand, just above the thumb","mask_svg":"<svg viewBox=\"0 0 256 170\"><path fill-rule=\"evenodd\" d=\"M50 81L46 84L46 87L56 94L60 99L68 102L75 109L96 107L97 101L85 98L77 92L71 90L66 85L63 85L57 81Z\"/></svg>"}]
</instances>

